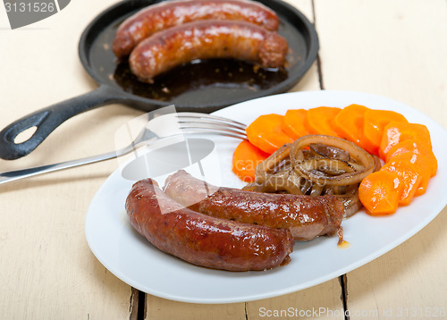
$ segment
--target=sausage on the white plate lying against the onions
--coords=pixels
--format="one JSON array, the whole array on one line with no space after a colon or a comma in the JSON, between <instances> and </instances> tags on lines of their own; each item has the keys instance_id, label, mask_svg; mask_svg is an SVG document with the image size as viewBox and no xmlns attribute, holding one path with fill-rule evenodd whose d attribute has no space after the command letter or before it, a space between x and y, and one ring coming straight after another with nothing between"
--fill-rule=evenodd
<instances>
[{"instance_id":1,"label":"sausage on the white plate lying against the onions","mask_svg":"<svg viewBox=\"0 0 447 320\"><path fill-rule=\"evenodd\" d=\"M295 240L312 240L338 231L344 215L334 196L299 196L217 188L179 171L169 176L164 192L177 202L206 215L287 228Z\"/></svg>"}]
</instances>

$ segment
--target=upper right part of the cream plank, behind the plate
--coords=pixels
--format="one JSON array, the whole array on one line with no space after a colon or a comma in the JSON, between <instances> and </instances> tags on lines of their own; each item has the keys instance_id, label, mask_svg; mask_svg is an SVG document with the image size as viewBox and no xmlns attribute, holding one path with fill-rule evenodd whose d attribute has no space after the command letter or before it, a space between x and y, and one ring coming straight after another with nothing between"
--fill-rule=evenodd
<instances>
[{"instance_id":1,"label":"upper right part of the cream plank, behind the plate","mask_svg":"<svg viewBox=\"0 0 447 320\"><path fill-rule=\"evenodd\" d=\"M327 89L389 97L447 119L443 0L315 0Z\"/></svg>"}]
</instances>

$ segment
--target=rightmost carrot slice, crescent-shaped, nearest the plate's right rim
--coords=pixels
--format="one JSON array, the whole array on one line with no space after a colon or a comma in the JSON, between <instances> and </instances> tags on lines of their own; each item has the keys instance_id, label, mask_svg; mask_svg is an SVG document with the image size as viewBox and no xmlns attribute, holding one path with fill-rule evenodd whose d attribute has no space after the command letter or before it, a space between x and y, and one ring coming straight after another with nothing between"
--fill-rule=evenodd
<instances>
[{"instance_id":1,"label":"rightmost carrot slice, crescent-shaped, nearest the plate's right rim","mask_svg":"<svg viewBox=\"0 0 447 320\"><path fill-rule=\"evenodd\" d=\"M385 154L384 161L385 163L389 162L392 157L406 153L422 156L420 162L423 163L424 166L430 168L430 178L436 175L438 162L433 151L429 146L417 140L407 139L392 146L392 148Z\"/></svg>"}]
</instances>

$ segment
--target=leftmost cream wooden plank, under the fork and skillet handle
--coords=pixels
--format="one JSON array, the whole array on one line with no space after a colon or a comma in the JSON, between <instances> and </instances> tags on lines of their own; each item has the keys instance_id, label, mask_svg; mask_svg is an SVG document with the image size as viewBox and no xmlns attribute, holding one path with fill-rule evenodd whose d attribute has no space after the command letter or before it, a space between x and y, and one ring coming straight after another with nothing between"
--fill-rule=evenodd
<instances>
[{"instance_id":1,"label":"leftmost cream wooden plank, under the fork and skillet handle","mask_svg":"<svg viewBox=\"0 0 447 320\"><path fill-rule=\"evenodd\" d=\"M78 58L80 33L110 1L72 1L62 12L10 30L0 10L0 128L96 88ZM120 105L64 123L30 156L0 171L95 155L133 112ZM0 186L0 314L4 319L126 319L131 287L91 253L84 219L116 163L94 164ZM135 307L133 307L135 310Z\"/></svg>"}]
</instances>

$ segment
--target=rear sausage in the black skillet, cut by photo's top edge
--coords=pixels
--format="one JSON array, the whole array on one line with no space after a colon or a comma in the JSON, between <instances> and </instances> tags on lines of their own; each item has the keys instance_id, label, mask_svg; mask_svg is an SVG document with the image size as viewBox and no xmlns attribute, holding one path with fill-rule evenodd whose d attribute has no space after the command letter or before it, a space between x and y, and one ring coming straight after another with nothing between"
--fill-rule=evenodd
<instances>
[{"instance_id":1,"label":"rear sausage in the black skillet, cut by photo's top edge","mask_svg":"<svg viewBox=\"0 0 447 320\"><path fill-rule=\"evenodd\" d=\"M279 25L279 19L274 11L253 1L164 1L150 5L122 22L112 45L114 54L118 57L130 55L141 40L162 29L208 19L247 21L269 30L276 30Z\"/></svg>"}]
</instances>

